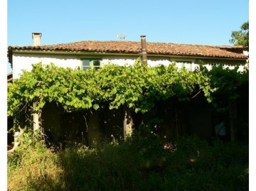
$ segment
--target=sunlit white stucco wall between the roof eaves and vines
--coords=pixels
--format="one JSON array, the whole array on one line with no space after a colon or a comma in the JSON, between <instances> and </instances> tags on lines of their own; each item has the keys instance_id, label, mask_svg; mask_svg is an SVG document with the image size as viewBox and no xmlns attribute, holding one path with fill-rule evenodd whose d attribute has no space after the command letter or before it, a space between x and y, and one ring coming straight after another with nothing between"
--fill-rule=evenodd
<instances>
[{"instance_id":1,"label":"sunlit white stucco wall between the roof eaves and vines","mask_svg":"<svg viewBox=\"0 0 256 191\"><path fill-rule=\"evenodd\" d=\"M43 64L50 64L53 62L58 67L70 67L73 70L75 68L81 67L81 58L101 58L102 65L109 64L110 62L117 65L133 65L134 62L139 58L138 56L115 56L115 55L53 55L53 54L35 54L35 53L13 53L13 77L18 78L21 75L22 70L32 70L32 64L36 64L38 62L42 62ZM148 65L150 67L154 67L156 65L169 65L171 62L175 62L176 60L181 62L190 62L191 64L185 63L182 65L181 63L176 62L176 66L178 68L186 67L187 70L195 70L198 66L196 65L195 59L186 59L186 58L168 58L168 57L148 57ZM226 66L225 66L226 67ZM208 69L211 66L208 65ZM232 68L230 68L232 69ZM243 66L240 65L240 70L243 70Z\"/></svg>"}]
</instances>

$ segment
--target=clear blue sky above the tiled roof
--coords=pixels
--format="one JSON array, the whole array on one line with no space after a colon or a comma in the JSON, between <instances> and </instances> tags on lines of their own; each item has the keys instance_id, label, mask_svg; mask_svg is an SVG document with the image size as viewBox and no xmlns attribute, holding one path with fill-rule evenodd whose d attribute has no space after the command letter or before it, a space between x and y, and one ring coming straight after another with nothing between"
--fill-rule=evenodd
<instances>
[{"instance_id":1,"label":"clear blue sky above the tiled roof","mask_svg":"<svg viewBox=\"0 0 256 191\"><path fill-rule=\"evenodd\" d=\"M248 0L7 1L7 45L80 40L140 40L230 45L232 31L249 19ZM11 71L8 65L8 70Z\"/></svg>"}]
</instances>

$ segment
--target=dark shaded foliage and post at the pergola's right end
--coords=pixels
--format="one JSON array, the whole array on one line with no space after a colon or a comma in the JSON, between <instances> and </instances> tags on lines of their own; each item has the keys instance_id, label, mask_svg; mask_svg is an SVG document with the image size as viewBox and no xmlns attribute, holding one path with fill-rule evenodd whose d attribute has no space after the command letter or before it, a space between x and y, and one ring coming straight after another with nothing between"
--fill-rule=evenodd
<instances>
[{"instance_id":1,"label":"dark shaded foliage and post at the pergola's right end","mask_svg":"<svg viewBox=\"0 0 256 191\"><path fill-rule=\"evenodd\" d=\"M249 70L245 68L242 72L238 72L238 66L233 70L222 66L213 66L210 71L206 67L204 69L202 68L204 75L209 77L212 88L216 89L212 93L213 107L219 114L224 115L225 111L228 111L230 141L237 141L239 121L242 119L242 116L239 116L241 111L238 112L238 103L241 102L240 100L243 104L247 103Z\"/></svg>"}]
</instances>

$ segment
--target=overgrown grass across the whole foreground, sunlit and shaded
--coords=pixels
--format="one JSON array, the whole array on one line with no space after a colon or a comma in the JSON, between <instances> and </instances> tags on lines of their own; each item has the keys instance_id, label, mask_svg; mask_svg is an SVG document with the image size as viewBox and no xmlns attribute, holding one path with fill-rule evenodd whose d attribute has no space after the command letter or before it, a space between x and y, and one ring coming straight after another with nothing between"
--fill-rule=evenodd
<instances>
[{"instance_id":1,"label":"overgrown grass across the whole foreground, sunlit and shaded","mask_svg":"<svg viewBox=\"0 0 256 191\"><path fill-rule=\"evenodd\" d=\"M57 153L39 142L9 155L8 188L249 190L248 158L248 145L215 141L208 146L196 137L171 143L134 136L125 143L73 145Z\"/></svg>"}]
</instances>

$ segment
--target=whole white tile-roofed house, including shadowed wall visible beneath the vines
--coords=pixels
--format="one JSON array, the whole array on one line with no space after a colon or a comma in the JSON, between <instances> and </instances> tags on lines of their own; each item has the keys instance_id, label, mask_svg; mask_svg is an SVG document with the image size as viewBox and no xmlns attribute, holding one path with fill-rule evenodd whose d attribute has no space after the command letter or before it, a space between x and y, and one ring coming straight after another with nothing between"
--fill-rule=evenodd
<instances>
[{"instance_id":1,"label":"whole white tile-roofed house, including shadowed wall visible beneath the vines","mask_svg":"<svg viewBox=\"0 0 256 191\"><path fill-rule=\"evenodd\" d=\"M13 78L16 79L22 70L31 70L33 63L42 62L49 64L53 62L59 67L70 67L74 70L80 68L98 69L110 62L117 65L134 64L135 60L142 55L142 60L147 65L169 65L176 62L179 68L186 67L187 70L195 70L200 65L223 65L225 67L240 66L240 70L248 64L247 47L243 46L219 46L219 45L186 45L174 43L146 43L145 36L141 42L137 41L95 41L83 40L74 43L63 43L56 45L41 45L41 33L33 33L33 45L9 46L8 57L13 69ZM183 134L189 126L191 133L210 137L213 132L213 121L211 121L210 107L203 102L184 104L177 111L169 111L166 115L159 114L164 119L163 126L169 131L169 126L179 126ZM180 118L177 119L177 112ZM87 115L87 116L86 116ZM89 120L85 120L85 116ZM119 111L95 111L88 113L65 113L63 109L46 104L43 111L43 127L46 131L61 132L73 129L73 135L83 136L87 134L87 143L92 143L93 138L100 138L103 134L110 137L122 135L122 113ZM209 127L210 128L206 128ZM51 129L51 130L50 130ZM113 129L116 133L113 133ZM184 130L182 130L184 129ZM209 131L210 129L210 131ZM171 130L174 134L177 129ZM121 133L120 133L121 132Z\"/></svg>"}]
</instances>

